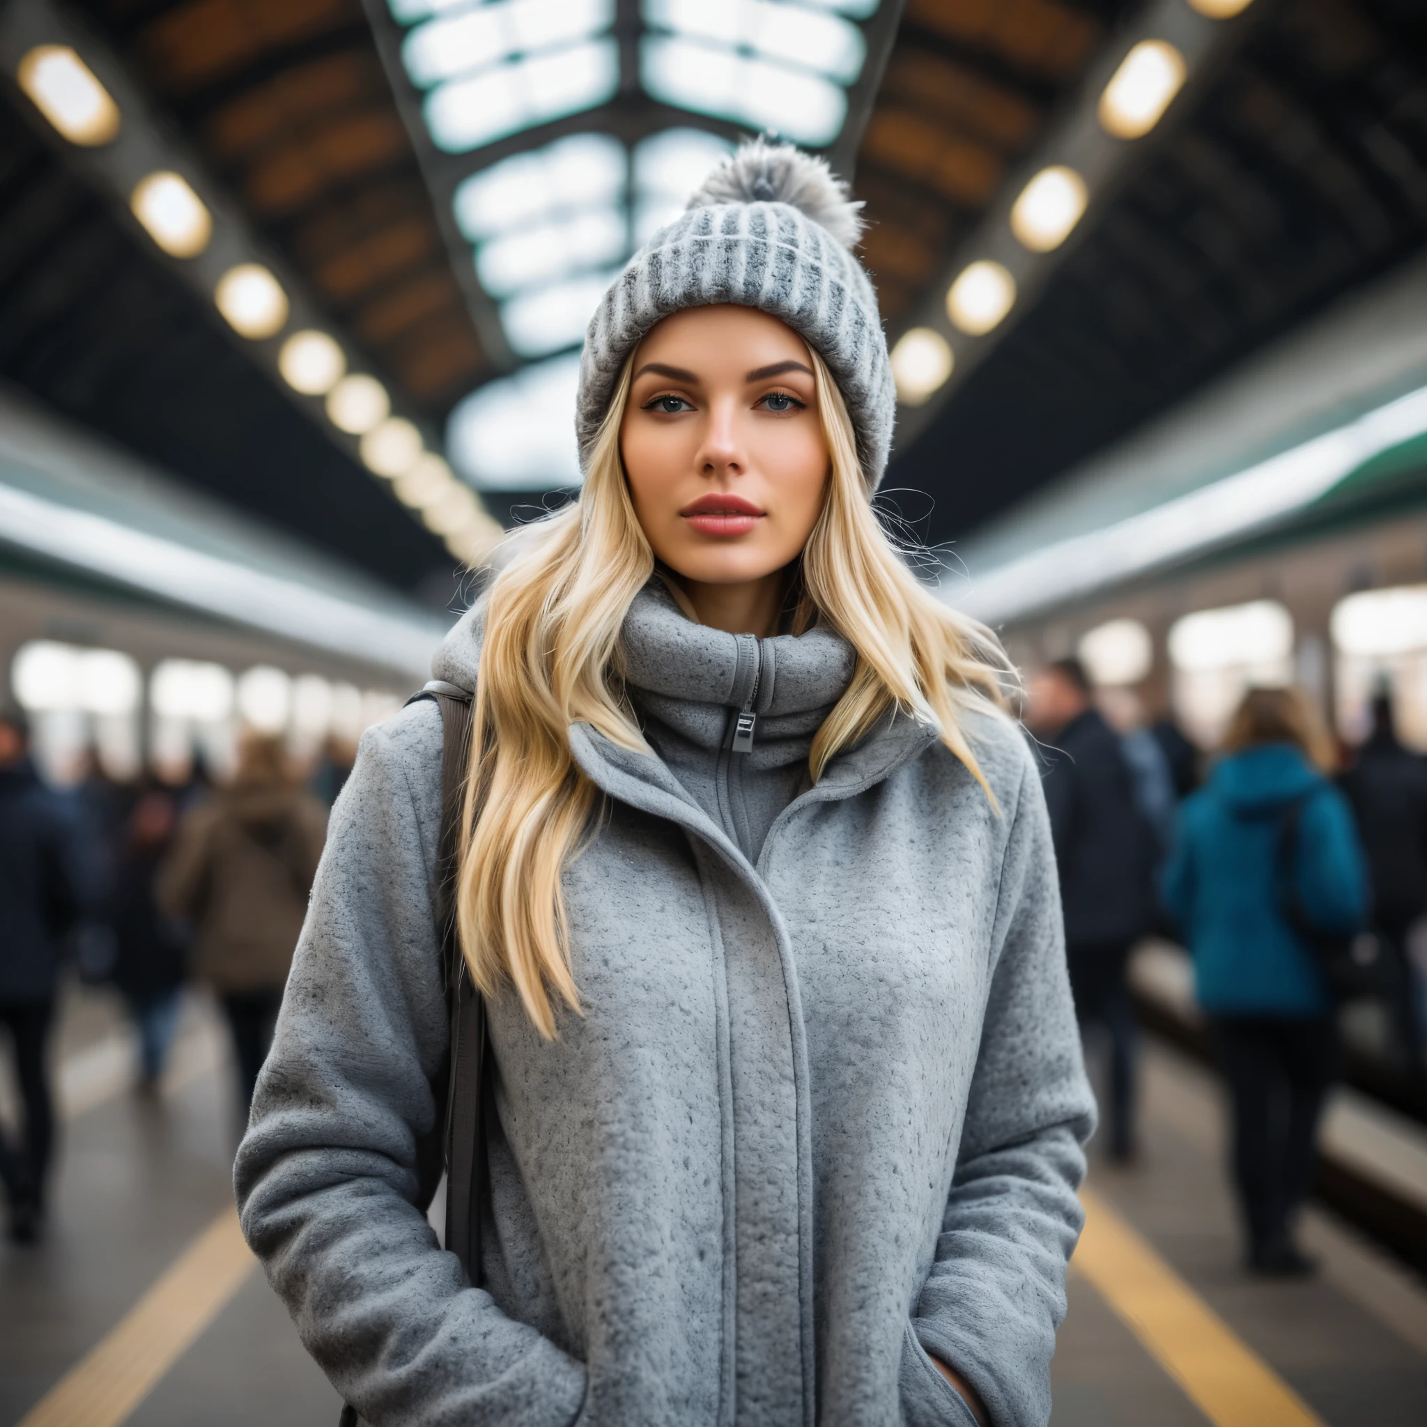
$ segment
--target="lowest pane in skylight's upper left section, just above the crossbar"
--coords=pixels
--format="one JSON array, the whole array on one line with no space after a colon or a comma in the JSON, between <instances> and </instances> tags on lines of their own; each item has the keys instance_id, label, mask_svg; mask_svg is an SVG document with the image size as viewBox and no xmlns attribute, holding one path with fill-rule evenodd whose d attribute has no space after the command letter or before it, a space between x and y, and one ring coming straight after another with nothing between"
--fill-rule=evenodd
<instances>
[{"instance_id":1,"label":"lowest pane in skylight's upper left section, just above the crossbar","mask_svg":"<svg viewBox=\"0 0 1427 1427\"><path fill-rule=\"evenodd\" d=\"M427 96L427 128L438 148L465 153L518 128L604 104L618 87L615 41L577 44L440 86Z\"/></svg>"}]
</instances>

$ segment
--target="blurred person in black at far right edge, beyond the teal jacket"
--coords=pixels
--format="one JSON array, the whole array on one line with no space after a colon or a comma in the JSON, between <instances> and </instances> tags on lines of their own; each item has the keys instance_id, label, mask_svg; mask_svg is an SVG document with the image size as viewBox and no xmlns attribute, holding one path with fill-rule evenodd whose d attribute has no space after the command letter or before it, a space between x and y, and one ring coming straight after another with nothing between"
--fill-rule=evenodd
<instances>
[{"instance_id":1,"label":"blurred person in black at far right edge, beyond the teal jacket","mask_svg":"<svg viewBox=\"0 0 1427 1427\"><path fill-rule=\"evenodd\" d=\"M1413 1072L1423 1075L1427 1027L1418 1023L1413 1005L1407 930L1427 913L1427 759L1398 741L1391 695L1386 691L1373 699L1373 731L1343 775L1341 786L1367 853L1373 922L1391 946L1398 968L1393 1007L1398 1036Z\"/></svg>"}]
</instances>

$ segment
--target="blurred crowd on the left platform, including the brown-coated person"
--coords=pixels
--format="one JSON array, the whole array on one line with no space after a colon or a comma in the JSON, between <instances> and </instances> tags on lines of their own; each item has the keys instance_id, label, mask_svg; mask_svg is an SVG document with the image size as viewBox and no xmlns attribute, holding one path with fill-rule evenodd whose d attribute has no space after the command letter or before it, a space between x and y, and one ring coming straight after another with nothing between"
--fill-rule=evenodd
<instances>
[{"instance_id":1,"label":"blurred crowd on the left platform, including the brown-coated person","mask_svg":"<svg viewBox=\"0 0 1427 1427\"><path fill-rule=\"evenodd\" d=\"M334 746L304 778L281 739L248 732L223 785L201 769L136 785L96 769L54 789L30 759L24 715L0 709L0 1026L21 1102L19 1124L0 1127L13 1240L36 1240L43 1224L56 1123L50 1039L67 975L121 997L144 1096L157 1095L184 987L207 986L228 1026L245 1120L327 809L350 766L350 752Z\"/></svg>"}]
</instances>

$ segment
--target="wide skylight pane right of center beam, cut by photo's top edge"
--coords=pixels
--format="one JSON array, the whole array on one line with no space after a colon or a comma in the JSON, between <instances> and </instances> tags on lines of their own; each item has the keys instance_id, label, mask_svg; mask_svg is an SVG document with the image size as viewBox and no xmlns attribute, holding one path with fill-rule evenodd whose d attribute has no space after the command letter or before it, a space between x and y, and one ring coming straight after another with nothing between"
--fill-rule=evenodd
<instances>
[{"instance_id":1,"label":"wide skylight pane right of center beam, cut by photo's top edge","mask_svg":"<svg viewBox=\"0 0 1427 1427\"><path fill-rule=\"evenodd\" d=\"M866 41L841 16L775 0L644 0L649 24L712 44L756 50L842 84L862 73Z\"/></svg>"}]
</instances>

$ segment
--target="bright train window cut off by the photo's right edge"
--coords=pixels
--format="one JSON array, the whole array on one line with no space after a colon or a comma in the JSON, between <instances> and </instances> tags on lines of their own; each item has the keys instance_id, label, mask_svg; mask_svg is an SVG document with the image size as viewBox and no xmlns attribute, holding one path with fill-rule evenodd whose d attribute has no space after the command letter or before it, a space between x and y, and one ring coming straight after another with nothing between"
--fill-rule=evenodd
<instances>
[{"instance_id":1,"label":"bright train window cut off by the photo's right edge","mask_svg":"<svg viewBox=\"0 0 1427 1427\"><path fill-rule=\"evenodd\" d=\"M1427 585L1349 595L1329 628L1339 733L1350 743L1367 738L1373 695L1390 691L1398 736L1427 749Z\"/></svg>"}]
</instances>

